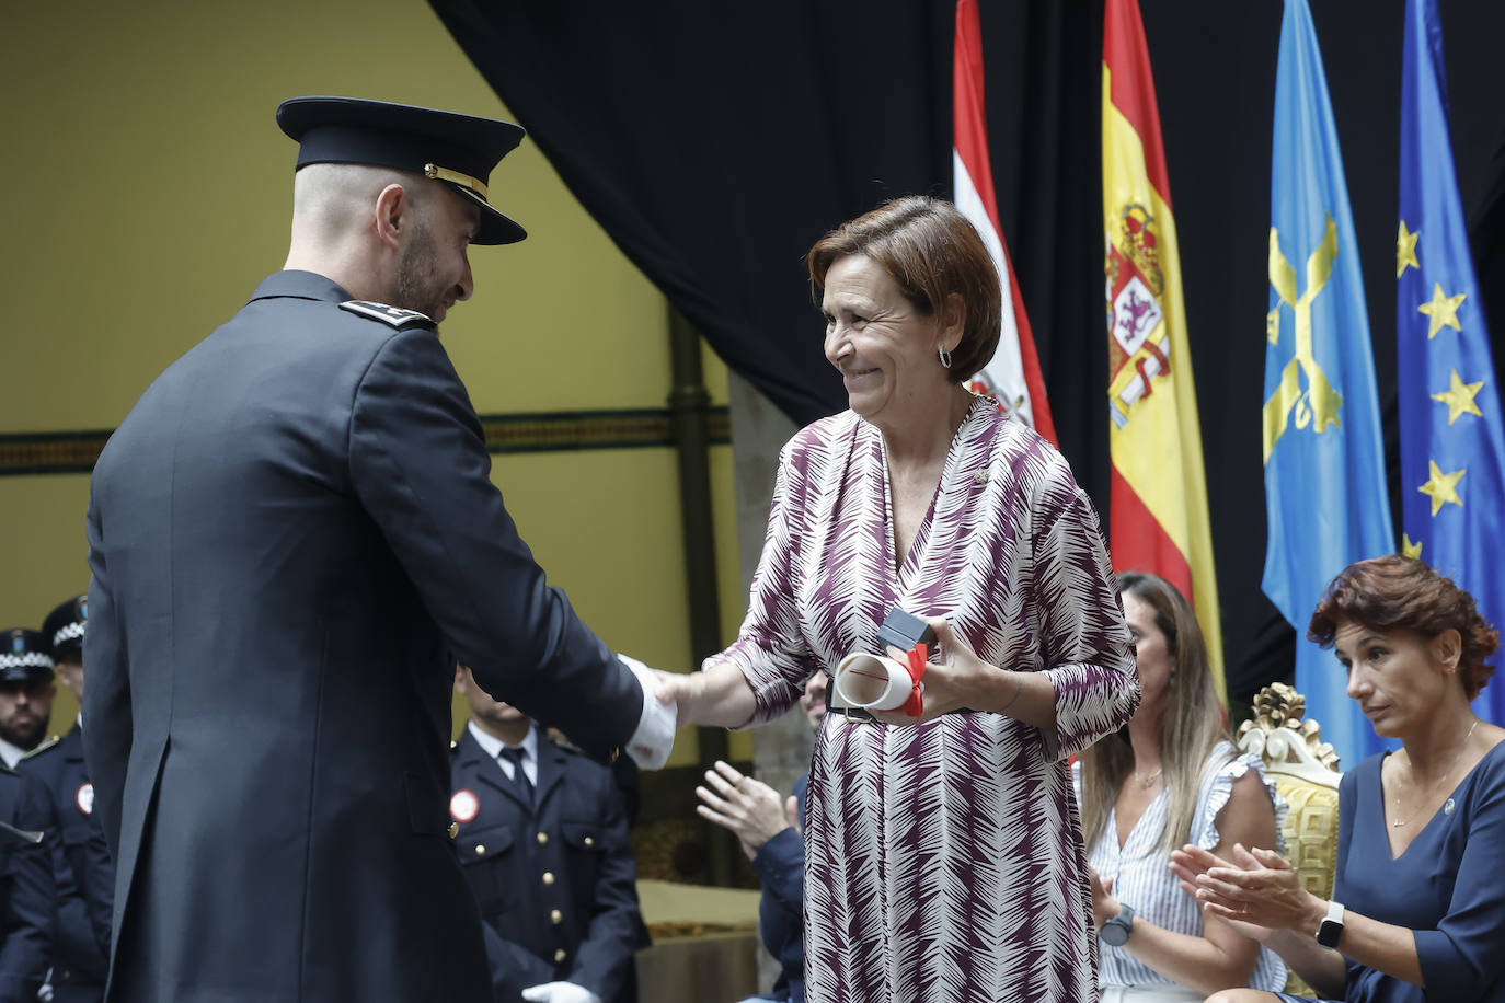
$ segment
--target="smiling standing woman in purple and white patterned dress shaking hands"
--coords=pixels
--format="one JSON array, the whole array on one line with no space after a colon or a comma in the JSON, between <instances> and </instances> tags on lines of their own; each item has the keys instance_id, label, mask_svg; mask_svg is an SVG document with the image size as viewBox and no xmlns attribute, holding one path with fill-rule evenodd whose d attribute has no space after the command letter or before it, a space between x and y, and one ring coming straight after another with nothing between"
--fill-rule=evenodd
<instances>
[{"instance_id":1,"label":"smiling standing woman in purple and white patterned dress shaking hands","mask_svg":"<svg viewBox=\"0 0 1505 1003\"><path fill-rule=\"evenodd\" d=\"M930 618L923 714L826 714L805 818L811 1003L1096 997L1067 756L1139 687L1097 514L1061 456L963 388L998 272L947 202L908 197L810 251L850 409L780 456L737 641L665 675L680 725L778 717L814 672Z\"/></svg>"}]
</instances>

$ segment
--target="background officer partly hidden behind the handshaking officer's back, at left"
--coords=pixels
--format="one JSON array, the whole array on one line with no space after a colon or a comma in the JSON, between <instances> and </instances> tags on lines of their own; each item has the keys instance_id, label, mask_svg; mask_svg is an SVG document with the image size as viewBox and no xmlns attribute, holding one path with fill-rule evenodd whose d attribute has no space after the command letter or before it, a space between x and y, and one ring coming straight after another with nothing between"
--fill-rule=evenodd
<instances>
[{"instance_id":1,"label":"background officer partly hidden behind the handshaking officer's back, at left","mask_svg":"<svg viewBox=\"0 0 1505 1003\"><path fill-rule=\"evenodd\" d=\"M57 678L83 702L84 624L89 597L60 603L42 621ZM93 785L84 768L83 713L62 738L44 741L17 764L20 773L47 788L53 814L48 833L57 881L57 929L48 985L53 1003L98 1003L104 998L110 959L110 908L114 865L104 829L93 814Z\"/></svg>"}]
</instances>

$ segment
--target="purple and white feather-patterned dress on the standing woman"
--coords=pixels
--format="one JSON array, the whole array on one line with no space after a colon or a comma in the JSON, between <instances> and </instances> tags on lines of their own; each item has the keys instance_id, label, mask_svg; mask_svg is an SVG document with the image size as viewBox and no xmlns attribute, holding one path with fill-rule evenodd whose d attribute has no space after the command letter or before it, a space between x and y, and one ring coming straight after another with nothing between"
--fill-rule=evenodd
<instances>
[{"instance_id":1,"label":"purple and white feather-patterned dress on the standing woman","mask_svg":"<svg viewBox=\"0 0 1505 1003\"><path fill-rule=\"evenodd\" d=\"M1057 731L989 713L888 726L828 714L805 826L811 1003L1079 1003L1097 937L1067 756L1139 698L1097 514L1061 456L983 398L894 571L877 429L843 412L780 459L768 540L725 653L760 723L895 603L944 615L984 660L1049 672Z\"/></svg>"}]
</instances>

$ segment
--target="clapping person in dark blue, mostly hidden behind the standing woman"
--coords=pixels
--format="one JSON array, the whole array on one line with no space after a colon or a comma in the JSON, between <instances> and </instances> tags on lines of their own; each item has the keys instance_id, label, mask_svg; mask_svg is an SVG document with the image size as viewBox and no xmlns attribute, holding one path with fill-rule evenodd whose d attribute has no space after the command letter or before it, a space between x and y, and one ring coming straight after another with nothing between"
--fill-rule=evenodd
<instances>
[{"instance_id":1,"label":"clapping person in dark blue, mostly hidden behind the standing woman","mask_svg":"<svg viewBox=\"0 0 1505 1003\"><path fill-rule=\"evenodd\" d=\"M799 698L810 726L819 734L826 717L826 674L816 672ZM766 995L743 1003L805 1000L805 844L801 841L805 814L807 771L795 780L787 800L768 783L743 776L728 762L718 762L706 773L709 786L695 788L701 818L736 833L742 853L763 883L759 899L759 934L763 946L778 961L780 973Z\"/></svg>"}]
</instances>

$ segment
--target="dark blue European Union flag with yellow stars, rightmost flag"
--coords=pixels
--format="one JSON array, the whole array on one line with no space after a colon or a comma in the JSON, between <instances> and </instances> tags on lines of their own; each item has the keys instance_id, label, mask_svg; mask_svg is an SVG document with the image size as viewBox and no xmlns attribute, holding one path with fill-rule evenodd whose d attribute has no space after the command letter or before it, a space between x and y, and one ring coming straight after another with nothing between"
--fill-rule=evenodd
<instances>
[{"instance_id":1,"label":"dark blue European Union flag with yellow stars, rightmost flag","mask_svg":"<svg viewBox=\"0 0 1505 1003\"><path fill-rule=\"evenodd\" d=\"M1436 0L1406 3L1395 275L1403 547L1469 589L1484 620L1499 627L1505 426L1452 170ZM1499 681L1475 710L1505 722Z\"/></svg>"}]
</instances>

